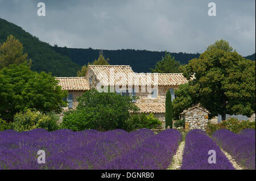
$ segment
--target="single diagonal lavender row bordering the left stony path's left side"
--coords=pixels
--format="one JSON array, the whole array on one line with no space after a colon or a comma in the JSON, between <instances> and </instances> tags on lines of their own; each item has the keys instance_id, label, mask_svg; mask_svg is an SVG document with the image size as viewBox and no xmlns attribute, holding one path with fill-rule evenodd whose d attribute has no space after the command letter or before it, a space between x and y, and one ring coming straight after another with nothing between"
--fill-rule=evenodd
<instances>
[{"instance_id":1,"label":"single diagonal lavender row bordering the left stony path's left side","mask_svg":"<svg viewBox=\"0 0 256 181\"><path fill-rule=\"evenodd\" d=\"M114 159L106 169L167 169L181 140L179 131L167 129Z\"/></svg>"}]
</instances>

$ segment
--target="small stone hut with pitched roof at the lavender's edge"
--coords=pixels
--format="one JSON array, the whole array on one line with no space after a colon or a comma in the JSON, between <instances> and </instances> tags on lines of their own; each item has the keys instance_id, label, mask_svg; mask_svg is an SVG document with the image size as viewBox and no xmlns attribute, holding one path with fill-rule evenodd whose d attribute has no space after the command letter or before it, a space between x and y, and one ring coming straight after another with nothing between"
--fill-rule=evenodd
<instances>
[{"instance_id":1,"label":"small stone hut with pitched roof at the lavender's edge","mask_svg":"<svg viewBox=\"0 0 256 181\"><path fill-rule=\"evenodd\" d=\"M210 114L204 107L197 104L189 108L188 110L184 110L180 113L181 119L185 119L185 129L193 130L193 129L202 129L206 130L208 124L208 115Z\"/></svg>"}]
</instances>

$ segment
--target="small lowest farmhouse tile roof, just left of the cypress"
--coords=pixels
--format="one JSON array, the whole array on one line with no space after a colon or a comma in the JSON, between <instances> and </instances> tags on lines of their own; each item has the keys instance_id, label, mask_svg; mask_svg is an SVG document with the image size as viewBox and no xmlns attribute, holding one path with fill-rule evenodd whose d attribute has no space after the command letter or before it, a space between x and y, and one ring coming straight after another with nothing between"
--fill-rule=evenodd
<instances>
[{"instance_id":1,"label":"small lowest farmhouse tile roof, just left of the cypress","mask_svg":"<svg viewBox=\"0 0 256 181\"><path fill-rule=\"evenodd\" d=\"M159 103L135 103L139 107L140 113L165 113L166 105Z\"/></svg>"}]
</instances>

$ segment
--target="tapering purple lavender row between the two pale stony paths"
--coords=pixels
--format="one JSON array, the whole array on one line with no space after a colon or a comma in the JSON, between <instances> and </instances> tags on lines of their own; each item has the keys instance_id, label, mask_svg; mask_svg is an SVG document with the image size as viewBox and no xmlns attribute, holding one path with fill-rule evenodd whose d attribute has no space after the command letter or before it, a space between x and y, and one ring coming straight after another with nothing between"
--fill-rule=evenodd
<instances>
[{"instance_id":1,"label":"tapering purple lavender row between the two pale stony paths","mask_svg":"<svg viewBox=\"0 0 256 181\"><path fill-rule=\"evenodd\" d=\"M207 133L199 129L187 133L181 170L233 169L232 163Z\"/></svg>"}]
</instances>

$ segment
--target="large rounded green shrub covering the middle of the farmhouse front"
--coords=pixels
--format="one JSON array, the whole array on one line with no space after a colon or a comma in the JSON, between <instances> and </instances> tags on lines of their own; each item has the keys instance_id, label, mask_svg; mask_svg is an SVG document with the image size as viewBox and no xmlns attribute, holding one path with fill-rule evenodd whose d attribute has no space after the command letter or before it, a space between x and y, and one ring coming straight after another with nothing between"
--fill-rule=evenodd
<instances>
[{"instance_id":1,"label":"large rounded green shrub covering the middle of the farmhouse front","mask_svg":"<svg viewBox=\"0 0 256 181\"><path fill-rule=\"evenodd\" d=\"M62 125L65 129L125 129L126 120L130 117L129 111L138 111L130 96L122 96L115 92L100 93L92 89L77 98L77 101L77 110L68 112L63 117Z\"/></svg>"}]
</instances>

